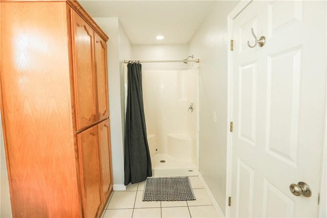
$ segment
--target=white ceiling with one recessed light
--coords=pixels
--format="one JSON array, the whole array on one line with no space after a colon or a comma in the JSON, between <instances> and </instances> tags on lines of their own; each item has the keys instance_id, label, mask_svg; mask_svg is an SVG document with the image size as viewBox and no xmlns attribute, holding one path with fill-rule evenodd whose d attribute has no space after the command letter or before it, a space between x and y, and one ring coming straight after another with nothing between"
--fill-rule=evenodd
<instances>
[{"instance_id":1,"label":"white ceiling with one recessed light","mask_svg":"<svg viewBox=\"0 0 327 218\"><path fill-rule=\"evenodd\" d=\"M79 0L91 17L118 17L132 44L188 44L215 1ZM157 40L162 35L165 38Z\"/></svg>"}]
</instances>

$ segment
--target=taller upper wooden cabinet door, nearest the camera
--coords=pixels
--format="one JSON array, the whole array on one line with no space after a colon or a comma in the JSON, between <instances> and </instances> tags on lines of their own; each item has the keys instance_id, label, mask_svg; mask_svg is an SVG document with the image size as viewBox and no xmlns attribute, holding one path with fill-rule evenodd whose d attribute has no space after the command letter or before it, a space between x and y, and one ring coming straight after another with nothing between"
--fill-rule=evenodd
<instances>
[{"instance_id":1,"label":"taller upper wooden cabinet door, nearest the camera","mask_svg":"<svg viewBox=\"0 0 327 218\"><path fill-rule=\"evenodd\" d=\"M94 31L74 10L71 14L76 125L80 130L97 121Z\"/></svg>"}]
</instances>

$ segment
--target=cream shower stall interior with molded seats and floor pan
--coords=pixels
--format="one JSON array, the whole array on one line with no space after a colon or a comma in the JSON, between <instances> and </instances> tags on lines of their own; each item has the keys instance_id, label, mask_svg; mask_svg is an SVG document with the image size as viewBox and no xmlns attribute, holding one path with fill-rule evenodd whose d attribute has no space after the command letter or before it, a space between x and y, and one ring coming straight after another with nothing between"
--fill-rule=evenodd
<instances>
[{"instance_id":1,"label":"cream shower stall interior with molded seats and floor pan","mask_svg":"<svg viewBox=\"0 0 327 218\"><path fill-rule=\"evenodd\" d=\"M142 71L154 177L198 175L198 70Z\"/></svg>"}]
</instances>

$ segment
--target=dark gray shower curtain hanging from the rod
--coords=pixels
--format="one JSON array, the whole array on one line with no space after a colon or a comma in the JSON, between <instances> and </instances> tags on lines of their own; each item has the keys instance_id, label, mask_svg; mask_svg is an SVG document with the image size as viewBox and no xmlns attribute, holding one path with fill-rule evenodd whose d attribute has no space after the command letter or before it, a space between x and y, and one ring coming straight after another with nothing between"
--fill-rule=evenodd
<instances>
[{"instance_id":1,"label":"dark gray shower curtain hanging from the rod","mask_svg":"<svg viewBox=\"0 0 327 218\"><path fill-rule=\"evenodd\" d=\"M142 182L152 176L145 125L142 91L142 65L129 63L124 144L125 185Z\"/></svg>"}]
</instances>

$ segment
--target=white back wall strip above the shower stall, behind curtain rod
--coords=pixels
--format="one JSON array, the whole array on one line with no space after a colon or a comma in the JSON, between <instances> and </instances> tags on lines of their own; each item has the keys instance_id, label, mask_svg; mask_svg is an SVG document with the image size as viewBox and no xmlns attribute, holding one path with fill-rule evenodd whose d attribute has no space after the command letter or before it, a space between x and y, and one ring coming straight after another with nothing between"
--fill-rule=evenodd
<instances>
[{"instance_id":1,"label":"white back wall strip above the shower stall, behind curtain rod","mask_svg":"<svg viewBox=\"0 0 327 218\"><path fill-rule=\"evenodd\" d=\"M132 45L132 60L183 60L189 55L192 54L187 44ZM190 66L183 62L143 63L142 70L189 69Z\"/></svg>"}]
</instances>

